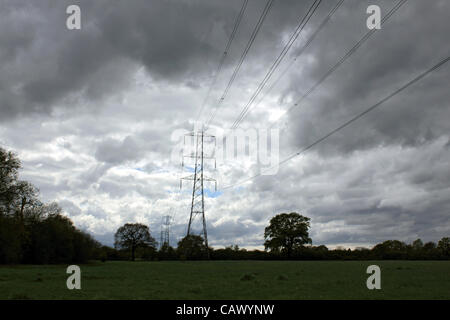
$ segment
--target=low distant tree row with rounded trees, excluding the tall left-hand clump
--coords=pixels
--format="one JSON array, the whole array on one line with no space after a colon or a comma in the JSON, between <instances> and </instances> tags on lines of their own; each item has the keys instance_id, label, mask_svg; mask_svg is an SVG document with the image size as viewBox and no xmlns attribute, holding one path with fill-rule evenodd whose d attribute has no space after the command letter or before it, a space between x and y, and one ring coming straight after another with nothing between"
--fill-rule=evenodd
<instances>
[{"instance_id":1,"label":"low distant tree row with rounded trees, excluding the tall left-hand clump","mask_svg":"<svg viewBox=\"0 0 450 320\"><path fill-rule=\"evenodd\" d=\"M387 240L372 249L329 250L326 246L312 246L309 237L310 218L296 212L274 216L264 232L265 250L207 248L201 236L188 235L177 248L164 243L156 249L156 241L143 224L126 224L115 235L115 248L104 247L104 260L447 260L450 259L450 238L436 244L417 239L411 244ZM127 231L126 231L127 230ZM137 230L140 230L138 232ZM136 254L137 253L137 254ZM209 254L208 254L209 253Z\"/></svg>"}]
</instances>

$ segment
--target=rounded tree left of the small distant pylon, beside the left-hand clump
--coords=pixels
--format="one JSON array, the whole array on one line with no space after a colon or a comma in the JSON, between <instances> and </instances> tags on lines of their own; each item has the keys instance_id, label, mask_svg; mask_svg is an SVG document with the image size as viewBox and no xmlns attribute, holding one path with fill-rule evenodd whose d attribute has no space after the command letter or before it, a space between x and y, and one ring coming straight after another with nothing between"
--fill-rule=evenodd
<instances>
[{"instance_id":1,"label":"rounded tree left of the small distant pylon, beside the left-hand clump","mask_svg":"<svg viewBox=\"0 0 450 320\"><path fill-rule=\"evenodd\" d=\"M135 259L136 249L140 246L156 247L155 239L150 235L150 230L141 223L126 223L117 229L114 235L114 247L131 251L131 260Z\"/></svg>"}]
</instances>

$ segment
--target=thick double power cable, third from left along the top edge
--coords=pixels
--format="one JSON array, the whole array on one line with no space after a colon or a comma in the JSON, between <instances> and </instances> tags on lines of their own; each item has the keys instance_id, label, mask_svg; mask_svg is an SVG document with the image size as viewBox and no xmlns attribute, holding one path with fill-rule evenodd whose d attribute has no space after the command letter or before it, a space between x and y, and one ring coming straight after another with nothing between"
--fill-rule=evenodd
<instances>
[{"instance_id":1,"label":"thick double power cable, third from left along the top edge","mask_svg":"<svg viewBox=\"0 0 450 320\"><path fill-rule=\"evenodd\" d=\"M237 117L237 119L234 121L233 125L231 126L232 129L236 129L239 126L239 123L244 119L244 117L248 113L251 105L253 104L255 99L258 97L258 95L260 94L261 90L265 87L266 83L269 81L270 77L273 75L273 73L278 68L280 63L283 61L283 59L286 56L286 54L288 53L289 49L292 47L294 42L297 40L298 36L303 31L305 25L311 19L312 15L317 10L317 8L319 7L321 2L322 2L322 0L315 0L311 4L311 6L309 7L308 11L302 17L302 19L300 20L299 24L297 25L297 27L295 28L294 32L292 33L291 37L289 38L288 42L284 46L283 50L281 50L281 52L278 55L278 57L275 59L273 64L270 66L270 68L267 71L266 75L264 76L263 80L259 84L258 88L255 90L253 95L250 97L250 100L247 102L247 104L244 106L244 108L242 109L241 113Z\"/></svg>"}]
</instances>

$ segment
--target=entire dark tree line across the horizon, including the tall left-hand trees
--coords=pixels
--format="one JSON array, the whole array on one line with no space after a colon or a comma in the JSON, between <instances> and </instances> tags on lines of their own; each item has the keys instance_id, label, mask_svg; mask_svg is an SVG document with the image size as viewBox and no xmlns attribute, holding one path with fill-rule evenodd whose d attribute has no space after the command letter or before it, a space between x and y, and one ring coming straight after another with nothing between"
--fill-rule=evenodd
<instances>
[{"instance_id":1,"label":"entire dark tree line across the horizon, including the tall left-hand trees","mask_svg":"<svg viewBox=\"0 0 450 320\"><path fill-rule=\"evenodd\" d=\"M56 203L39 200L39 190L19 180L21 162L0 147L0 264L84 263L89 260L379 260L450 259L450 238L436 244L388 240L372 249L313 246L310 218L296 212L274 216L264 230L265 250L207 248L201 236L188 235L176 248L158 243L147 226L127 223L114 236L114 247L101 245L75 227Z\"/></svg>"}]
</instances>

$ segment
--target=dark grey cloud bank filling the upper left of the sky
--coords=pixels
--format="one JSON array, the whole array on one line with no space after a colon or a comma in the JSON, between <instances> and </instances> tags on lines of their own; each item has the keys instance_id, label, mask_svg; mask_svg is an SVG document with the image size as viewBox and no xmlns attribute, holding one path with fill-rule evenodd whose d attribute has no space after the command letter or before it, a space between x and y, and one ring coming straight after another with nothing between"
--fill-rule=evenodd
<instances>
[{"instance_id":1,"label":"dark grey cloud bank filling the upper left of the sky","mask_svg":"<svg viewBox=\"0 0 450 320\"><path fill-rule=\"evenodd\" d=\"M81 7L79 31L65 28L71 4ZM102 99L125 89L138 66L154 79L198 88L209 82L239 7L240 1L5 1L0 43L9 66L0 78L2 118L51 112L62 101ZM306 4L274 7L263 29L264 37L277 42L279 32L298 19L289 8ZM247 41L260 10L259 3L249 4L237 47ZM255 47L258 57L267 44ZM239 56L234 50L226 63Z\"/></svg>"}]
</instances>

